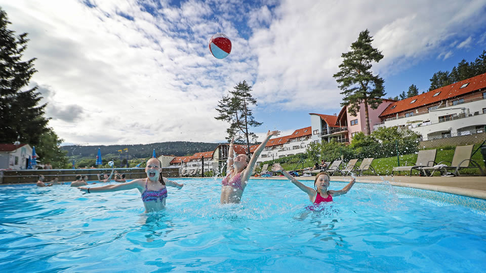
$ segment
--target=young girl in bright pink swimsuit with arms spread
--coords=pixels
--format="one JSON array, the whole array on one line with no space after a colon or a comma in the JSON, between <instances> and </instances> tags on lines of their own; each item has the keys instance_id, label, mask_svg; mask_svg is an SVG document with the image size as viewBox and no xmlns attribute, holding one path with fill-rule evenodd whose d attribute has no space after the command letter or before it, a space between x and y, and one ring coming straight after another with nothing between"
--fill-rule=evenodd
<instances>
[{"instance_id":1,"label":"young girl in bright pink swimsuit with arms spread","mask_svg":"<svg viewBox=\"0 0 486 273\"><path fill-rule=\"evenodd\" d=\"M332 202L334 196L346 194L349 190L351 190L354 183L356 182L355 179L352 178L351 182L349 182L348 185L344 186L343 189L339 191L328 190L331 177L326 172L319 172L315 176L314 189L312 189L300 183L297 179L294 178L294 176L290 175L278 163L273 164L272 171L281 172L282 174L284 174L284 176L287 177L295 186L299 187L299 189L309 195L309 199L312 204Z\"/></svg>"}]
</instances>

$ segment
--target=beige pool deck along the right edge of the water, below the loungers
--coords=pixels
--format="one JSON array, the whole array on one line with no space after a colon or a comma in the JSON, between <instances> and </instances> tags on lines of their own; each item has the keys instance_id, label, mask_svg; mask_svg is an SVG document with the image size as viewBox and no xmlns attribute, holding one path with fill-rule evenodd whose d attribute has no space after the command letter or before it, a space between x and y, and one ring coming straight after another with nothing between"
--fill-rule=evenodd
<instances>
[{"instance_id":1,"label":"beige pool deck along the right edge of the water, below the loungers","mask_svg":"<svg viewBox=\"0 0 486 273\"><path fill-rule=\"evenodd\" d=\"M281 176L252 177L250 179L285 179ZM314 180L315 176L299 176L298 180ZM349 176L331 176L332 181L350 181ZM486 199L486 176L456 176L456 177L422 177L422 176L358 176L357 183L384 184L387 181L392 186L408 187L435 192L443 192Z\"/></svg>"}]
</instances>

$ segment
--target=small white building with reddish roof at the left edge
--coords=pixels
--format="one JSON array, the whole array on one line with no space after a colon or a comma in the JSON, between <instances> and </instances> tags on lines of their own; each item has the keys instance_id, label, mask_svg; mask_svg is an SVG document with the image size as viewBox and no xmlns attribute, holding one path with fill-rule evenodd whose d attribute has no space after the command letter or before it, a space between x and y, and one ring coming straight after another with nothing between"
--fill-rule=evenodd
<instances>
[{"instance_id":1,"label":"small white building with reddish roof at the left edge","mask_svg":"<svg viewBox=\"0 0 486 273\"><path fill-rule=\"evenodd\" d=\"M27 169L32 147L28 144L0 144L0 169Z\"/></svg>"}]
</instances>

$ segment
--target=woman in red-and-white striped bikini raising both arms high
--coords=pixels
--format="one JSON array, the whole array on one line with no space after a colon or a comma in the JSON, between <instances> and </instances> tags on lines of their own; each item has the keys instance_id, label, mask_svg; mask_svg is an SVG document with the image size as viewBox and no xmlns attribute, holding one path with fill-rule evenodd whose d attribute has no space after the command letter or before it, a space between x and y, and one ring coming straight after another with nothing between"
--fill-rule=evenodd
<instances>
[{"instance_id":1,"label":"woman in red-and-white striped bikini raising both arms high","mask_svg":"<svg viewBox=\"0 0 486 273\"><path fill-rule=\"evenodd\" d=\"M278 135L279 131L268 130L265 140L258 146L258 148L253 152L253 156L250 157L246 154L240 154L233 159L233 140L229 144L228 151L228 165L226 167L226 173L228 174L221 181L221 204L227 203L239 203L243 191L247 187L248 179L252 175L253 168L257 163L257 159L262 153L265 145L272 135Z\"/></svg>"}]
</instances>

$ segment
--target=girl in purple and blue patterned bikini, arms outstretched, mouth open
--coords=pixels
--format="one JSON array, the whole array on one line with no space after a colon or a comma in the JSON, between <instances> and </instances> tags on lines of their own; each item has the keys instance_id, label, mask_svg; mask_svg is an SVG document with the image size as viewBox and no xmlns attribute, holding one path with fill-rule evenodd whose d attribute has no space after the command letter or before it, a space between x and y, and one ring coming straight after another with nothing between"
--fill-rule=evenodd
<instances>
[{"instance_id":1,"label":"girl in purple and blue patterned bikini, arms outstretched, mouth open","mask_svg":"<svg viewBox=\"0 0 486 273\"><path fill-rule=\"evenodd\" d=\"M178 184L162 176L162 163L157 158L150 158L145 167L147 178L134 179L123 184L112 184L101 187L78 189L85 193L107 193L137 189L142 194L145 212L159 211L166 207L167 187L182 189L184 184Z\"/></svg>"}]
</instances>

